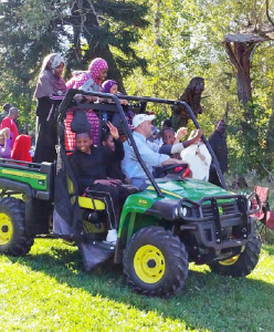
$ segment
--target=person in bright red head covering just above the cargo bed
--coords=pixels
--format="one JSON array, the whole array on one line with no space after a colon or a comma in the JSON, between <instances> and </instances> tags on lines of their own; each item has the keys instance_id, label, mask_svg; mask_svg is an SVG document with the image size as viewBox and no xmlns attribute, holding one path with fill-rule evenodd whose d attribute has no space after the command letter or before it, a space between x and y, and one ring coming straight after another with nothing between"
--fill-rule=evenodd
<instances>
[{"instance_id":1,"label":"person in bright red head covering just above the cargo bed","mask_svg":"<svg viewBox=\"0 0 274 332\"><path fill-rule=\"evenodd\" d=\"M30 149L31 149L31 137L29 135L19 135L17 136L15 142L13 144L11 158L14 160L32 163Z\"/></svg>"}]
</instances>

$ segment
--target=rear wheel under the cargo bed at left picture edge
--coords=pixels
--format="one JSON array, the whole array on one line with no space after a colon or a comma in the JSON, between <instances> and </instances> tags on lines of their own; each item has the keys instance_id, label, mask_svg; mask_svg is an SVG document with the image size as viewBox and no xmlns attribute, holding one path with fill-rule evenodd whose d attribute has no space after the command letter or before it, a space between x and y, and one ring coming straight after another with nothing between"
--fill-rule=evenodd
<instances>
[{"instance_id":1,"label":"rear wheel under the cargo bed at left picture edge","mask_svg":"<svg viewBox=\"0 0 274 332\"><path fill-rule=\"evenodd\" d=\"M0 253L24 256L33 246L25 235L24 203L14 197L0 200Z\"/></svg>"}]
</instances>

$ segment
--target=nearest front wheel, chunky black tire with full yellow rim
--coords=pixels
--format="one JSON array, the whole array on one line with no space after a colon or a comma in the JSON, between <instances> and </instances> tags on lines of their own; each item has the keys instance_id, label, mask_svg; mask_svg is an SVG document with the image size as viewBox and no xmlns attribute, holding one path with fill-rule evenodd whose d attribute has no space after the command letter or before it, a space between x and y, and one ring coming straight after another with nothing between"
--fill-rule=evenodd
<instances>
[{"instance_id":1,"label":"nearest front wheel, chunky black tire with full yellow rim","mask_svg":"<svg viewBox=\"0 0 274 332\"><path fill-rule=\"evenodd\" d=\"M169 298L188 277L188 253L183 243L162 227L137 231L124 250L124 273L131 289L149 297Z\"/></svg>"}]
</instances>

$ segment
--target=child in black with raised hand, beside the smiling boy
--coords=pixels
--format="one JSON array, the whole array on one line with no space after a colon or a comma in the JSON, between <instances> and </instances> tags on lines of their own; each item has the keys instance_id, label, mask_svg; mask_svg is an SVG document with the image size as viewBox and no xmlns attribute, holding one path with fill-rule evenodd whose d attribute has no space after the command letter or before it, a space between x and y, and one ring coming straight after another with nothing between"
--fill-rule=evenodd
<instances>
[{"instance_id":1,"label":"child in black with raised hand, beside the smiling boy","mask_svg":"<svg viewBox=\"0 0 274 332\"><path fill-rule=\"evenodd\" d=\"M126 181L126 176L122 172L122 160L125 157L125 151L123 142L119 137L118 129L112 125L112 123L107 123L107 126L110 131L103 132L101 136L101 144L105 155L108 155L108 158L112 163L108 167L106 167L107 176L109 178L117 178L123 183Z\"/></svg>"}]
</instances>

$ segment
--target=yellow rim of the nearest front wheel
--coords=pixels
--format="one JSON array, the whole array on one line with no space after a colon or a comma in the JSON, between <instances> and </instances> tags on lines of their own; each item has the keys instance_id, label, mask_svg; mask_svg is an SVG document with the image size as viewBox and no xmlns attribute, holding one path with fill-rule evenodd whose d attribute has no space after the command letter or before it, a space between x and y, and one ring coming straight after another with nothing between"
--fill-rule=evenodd
<instances>
[{"instance_id":1,"label":"yellow rim of the nearest front wheel","mask_svg":"<svg viewBox=\"0 0 274 332\"><path fill-rule=\"evenodd\" d=\"M146 283L158 282L165 273L165 258L155 246L144 246L134 257L134 269L138 278Z\"/></svg>"}]
</instances>

